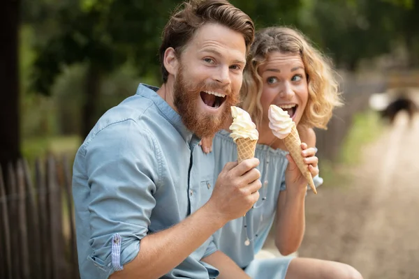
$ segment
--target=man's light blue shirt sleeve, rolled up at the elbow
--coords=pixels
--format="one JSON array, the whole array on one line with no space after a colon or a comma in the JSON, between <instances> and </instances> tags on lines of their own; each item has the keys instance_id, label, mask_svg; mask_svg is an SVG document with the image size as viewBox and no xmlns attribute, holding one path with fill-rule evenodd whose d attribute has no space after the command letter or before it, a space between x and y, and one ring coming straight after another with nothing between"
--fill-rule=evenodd
<instances>
[{"instance_id":1,"label":"man's light blue shirt sleeve, rolled up at the elbow","mask_svg":"<svg viewBox=\"0 0 419 279\"><path fill-rule=\"evenodd\" d=\"M86 146L90 260L106 277L136 257L147 234L160 177L155 150L150 133L130 119L103 128Z\"/></svg>"}]
</instances>

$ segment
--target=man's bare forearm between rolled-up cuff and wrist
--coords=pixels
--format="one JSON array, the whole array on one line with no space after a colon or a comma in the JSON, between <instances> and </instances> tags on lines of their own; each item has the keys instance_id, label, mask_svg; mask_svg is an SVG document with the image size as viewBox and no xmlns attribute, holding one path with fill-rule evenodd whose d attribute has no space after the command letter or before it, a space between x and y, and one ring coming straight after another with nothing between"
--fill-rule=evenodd
<instances>
[{"instance_id":1,"label":"man's bare forearm between rolled-up cuff and wrist","mask_svg":"<svg viewBox=\"0 0 419 279\"><path fill-rule=\"evenodd\" d=\"M133 261L110 278L159 278L168 273L226 223L215 212L205 204L181 223L145 236Z\"/></svg>"}]
</instances>

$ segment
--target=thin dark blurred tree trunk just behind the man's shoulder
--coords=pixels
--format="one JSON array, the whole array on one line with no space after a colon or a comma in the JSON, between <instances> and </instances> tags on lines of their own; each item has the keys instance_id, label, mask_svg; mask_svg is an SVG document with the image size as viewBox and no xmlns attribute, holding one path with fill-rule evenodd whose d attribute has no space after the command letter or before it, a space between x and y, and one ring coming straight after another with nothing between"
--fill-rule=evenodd
<instances>
[{"instance_id":1,"label":"thin dark blurred tree trunk just behind the man's shoulder","mask_svg":"<svg viewBox=\"0 0 419 279\"><path fill-rule=\"evenodd\" d=\"M97 121L96 104L101 91L101 75L99 70L92 65L87 68L86 92L84 94L84 107L82 117L82 137L86 137Z\"/></svg>"}]
</instances>

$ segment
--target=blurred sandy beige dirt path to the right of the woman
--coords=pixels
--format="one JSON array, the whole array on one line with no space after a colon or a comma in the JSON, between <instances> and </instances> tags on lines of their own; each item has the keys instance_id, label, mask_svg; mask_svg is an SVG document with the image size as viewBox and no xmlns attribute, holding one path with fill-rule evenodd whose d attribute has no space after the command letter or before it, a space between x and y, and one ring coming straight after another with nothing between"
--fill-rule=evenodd
<instances>
[{"instance_id":1,"label":"blurred sandy beige dirt path to the right of the woman","mask_svg":"<svg viewBox=\"0 0 419 279\"><path fill-rule=\"evenodd\" d=\"M419 118L365 146L351 183L307 198L300 257L351 264L365 279L419 278Z\"/></svg>"}]
</instances>

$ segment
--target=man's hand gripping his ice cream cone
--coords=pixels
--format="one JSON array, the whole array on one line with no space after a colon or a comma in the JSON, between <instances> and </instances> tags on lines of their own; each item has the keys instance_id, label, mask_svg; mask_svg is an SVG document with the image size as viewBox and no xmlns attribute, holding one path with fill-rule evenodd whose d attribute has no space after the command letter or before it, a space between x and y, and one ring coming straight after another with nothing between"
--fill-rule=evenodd
<instances>
[{"instance_id":1,"label":"man's hand gripping his ice cream cone","mask_svg":"<svg viewBox=\"0 0 419 279\"><path fill-rule=\"evenodd\" d=\"M227 163L216 180L214 191L208 204L228 222L243 216L259 199L260 172L257 158L242 163Z\"/></svg>"}]
</instances>

